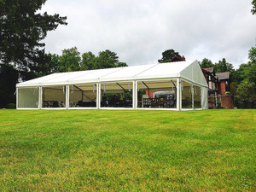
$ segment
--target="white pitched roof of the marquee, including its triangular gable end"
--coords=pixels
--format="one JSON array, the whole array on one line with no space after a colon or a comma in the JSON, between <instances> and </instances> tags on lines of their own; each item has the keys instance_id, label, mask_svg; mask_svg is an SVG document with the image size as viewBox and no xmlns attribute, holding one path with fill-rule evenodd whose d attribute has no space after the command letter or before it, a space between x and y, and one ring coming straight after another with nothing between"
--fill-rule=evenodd
<instances>
[{"instance_id":1,"label":"white pitched roof of the marquee, including its triangular gable end","mask_svg":"<svg viewBox=\"0 0 256 192\"><path fill-rule=\"evenodd\" d=\"M82 84L136 79L183 78L196 84L207 86L198 61L178 61L131 67L117 67L90 71L54 73L42 78L32 79L17 87L46 86L56 84Z\"/></svg>"}]
</instances>

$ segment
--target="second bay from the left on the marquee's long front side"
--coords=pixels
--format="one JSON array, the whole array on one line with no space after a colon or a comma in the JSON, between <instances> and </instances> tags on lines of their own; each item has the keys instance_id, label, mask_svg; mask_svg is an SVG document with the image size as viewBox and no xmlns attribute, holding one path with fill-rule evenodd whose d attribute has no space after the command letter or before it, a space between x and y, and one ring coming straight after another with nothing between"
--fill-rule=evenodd
<instances>
[{"instance_id":1,"label":"second bay from the left on the marquee's long front side","mask_svg":"<svg viewBox=\"0 0 256 192\"><path fill-rule=\"evenodd\" d=\"M65 108L66 86L47 86L42 88L42 108Z\"/></svg>"}]
</instances>

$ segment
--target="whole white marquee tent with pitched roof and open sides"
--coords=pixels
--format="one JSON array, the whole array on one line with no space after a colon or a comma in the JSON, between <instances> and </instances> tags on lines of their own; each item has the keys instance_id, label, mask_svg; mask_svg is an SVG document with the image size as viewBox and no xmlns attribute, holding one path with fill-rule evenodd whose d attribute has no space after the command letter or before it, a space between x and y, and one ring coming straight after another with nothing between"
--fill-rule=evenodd
<instances>
[{"instance_id":1,"label":"whole white marquee tent with pitched roof and open sides","mask_svg":"<svg viewBox=\"0 0 256 192\"><path fill-rule=\"evenodd\" d=\"M54 73L16 92L18 109L207 109L198 61Z\"/></svg>"}]
</instances>

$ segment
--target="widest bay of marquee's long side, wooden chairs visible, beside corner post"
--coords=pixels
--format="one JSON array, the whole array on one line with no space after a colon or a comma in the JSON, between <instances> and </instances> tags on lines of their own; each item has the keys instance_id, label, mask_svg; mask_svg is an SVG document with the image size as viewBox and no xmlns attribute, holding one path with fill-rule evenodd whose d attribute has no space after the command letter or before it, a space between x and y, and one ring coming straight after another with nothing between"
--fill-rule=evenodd
<instances>
[{"instance_id":1,"label":"widest bay of marquee's long side, wooden chairs visible, beside corner post","mask_svg":"<svg viewBox=\"0 0 256 192\"><path fill-rule=\"evenodd\" d=\"M177 81L137 81L137 108L177 108Z\"/></svg>"}]
</instances>

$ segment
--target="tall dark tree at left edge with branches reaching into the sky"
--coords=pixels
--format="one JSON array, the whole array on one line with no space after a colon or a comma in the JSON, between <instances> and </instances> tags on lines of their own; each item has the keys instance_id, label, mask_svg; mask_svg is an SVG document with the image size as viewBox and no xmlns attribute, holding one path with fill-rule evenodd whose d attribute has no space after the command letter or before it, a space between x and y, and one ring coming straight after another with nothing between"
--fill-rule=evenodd
<instances>
[{"instance_id":1,"label":"tall dark tree at left edge with branches reaching into the sky","mask_svg":"<svg viewBox=\"0 0 256 192\"><path fill-rule=\"evenodd\" d=\"M0 1L0 63L15 63L20 72L29 72L44 56L42 40L47 32L67 25L66 17L38 13L46 0Z\"/></svg>"}]
</instances>

